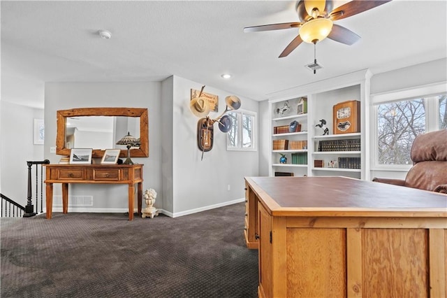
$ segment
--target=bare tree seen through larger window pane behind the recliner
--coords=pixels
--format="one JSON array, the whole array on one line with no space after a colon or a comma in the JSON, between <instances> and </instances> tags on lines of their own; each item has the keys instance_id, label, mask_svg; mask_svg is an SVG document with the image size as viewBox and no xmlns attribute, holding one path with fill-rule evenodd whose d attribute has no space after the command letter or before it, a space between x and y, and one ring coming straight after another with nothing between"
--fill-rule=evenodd
<instances>
[{"instance_id":1,"label":"bare tree seen through larger window pane behind the recliner","mask_svg":"<svg viewBox=\"0 0 447 298\"><path fill-rule=\"evenodd\" d=\"M411 164L413 141L425 132L423 99L380 104L377 108L379 164Z\"/></svg>"}]
</instances>

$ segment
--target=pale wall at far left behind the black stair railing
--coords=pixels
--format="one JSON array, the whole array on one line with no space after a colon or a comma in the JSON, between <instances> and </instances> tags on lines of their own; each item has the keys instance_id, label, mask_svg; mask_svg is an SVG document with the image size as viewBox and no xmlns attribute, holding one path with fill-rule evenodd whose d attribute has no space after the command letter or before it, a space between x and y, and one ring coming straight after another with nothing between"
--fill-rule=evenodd
<instances>
[{"instance_id":1,"label":"pale wall at far left behind the black stair railing","mask_svg":"<svg viewBox=\"0 0 447 298\"><path fill-rule=\"evenodd\" d=\"M43 160L44 146L34 145L34 119L43 119L43 110L6 101L0 101L0 105L0 192L25 206L28 191L27 161ZM31 185L34 187L35 166L33 170ZM35 195L33 190L34 205ZM36 206L34 208L36 211Z\"/></svg>"}]
</instances>

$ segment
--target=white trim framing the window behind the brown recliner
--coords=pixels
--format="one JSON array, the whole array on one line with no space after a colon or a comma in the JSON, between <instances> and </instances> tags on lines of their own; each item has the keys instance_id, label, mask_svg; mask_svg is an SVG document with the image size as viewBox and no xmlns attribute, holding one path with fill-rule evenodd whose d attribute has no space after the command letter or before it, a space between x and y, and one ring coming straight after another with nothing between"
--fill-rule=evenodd
<instances>
[{"instance_id":1,"label":"white trim framing the window behind the brown recliner","mask_svg":"<svg viewBox=\"0 0 447 298\"><path fill-rule=\"evenodd\" d=\"M390 104L397 101L408 101L412 99L423 98L427 101L427 98L434 97L435 95L447 93L447 82L433 83L427 85L420 85L417 87L411 87L407 89L394 90L390 92L382 92L370 95L371 105L371 121L372 121L372 142L371 142L371 156L370 164L372 171L409 171L412 164L379 164L376 144L378 142L378 129L377 129L377 107L380 104ZM439 112L439 104L427 105L428 115L425 117L425 132L432 132L437 129L437 123L430 121L430 114L435 111L434 106L437 106ZM434 124L433 124L434 123Z\"/></svg>"}]
</instances>

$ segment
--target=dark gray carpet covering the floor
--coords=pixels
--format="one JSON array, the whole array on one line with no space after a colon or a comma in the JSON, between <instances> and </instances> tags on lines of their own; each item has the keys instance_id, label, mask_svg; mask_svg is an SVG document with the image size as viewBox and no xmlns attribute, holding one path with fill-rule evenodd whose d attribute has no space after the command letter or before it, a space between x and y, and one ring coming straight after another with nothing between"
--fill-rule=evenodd
<instances>
[{"instance_id":1,"label":"dark gray carpet covering the floor","mask_svg":"<svg viewBox=\"0 0 447 298\"><path fill-rule=\"evenodd\" d=\"M1 218L1 297L257 297L244 212Z\"/></svg>"}]
</instances>

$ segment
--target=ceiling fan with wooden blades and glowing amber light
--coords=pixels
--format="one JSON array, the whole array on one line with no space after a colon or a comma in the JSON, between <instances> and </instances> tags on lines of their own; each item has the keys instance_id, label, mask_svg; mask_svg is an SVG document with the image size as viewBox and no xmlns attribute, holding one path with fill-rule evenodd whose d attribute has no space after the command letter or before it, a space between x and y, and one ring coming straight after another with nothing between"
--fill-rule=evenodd
<instances>
[{"instance_id":1,"label":"ceiling fan with wooden blades and glowing amber light","mask_svg":"<svg viewBox=\"0 0 447 298\"><path fill-rule=\"evenodd\" d=\"M286 57L303 41L316 44L318 41L322 41L328 37L333 41L352 45L360 39L360 36L345 27L334 24L333 21L357 15L358 13L381 6L389 1L391 0L356 0L344 3L342 6L332 10L332 0L300 0L296 5L300 22L245 27L244 32L298 28L298 35L281 52L279 58Z\"/></svg>"}]
</instances>

